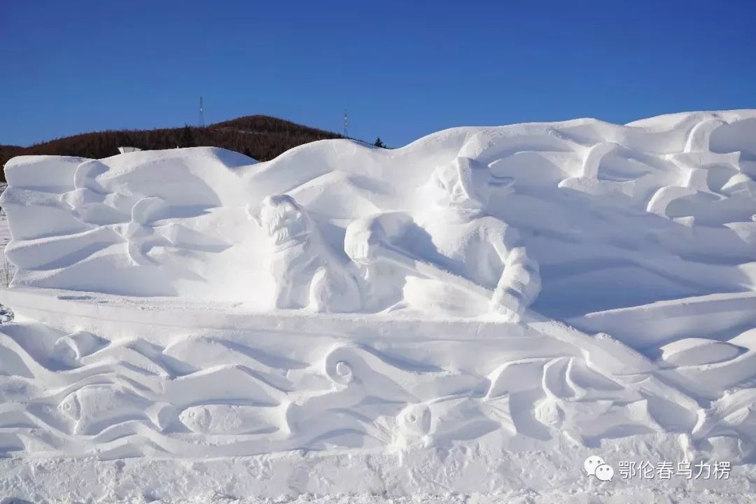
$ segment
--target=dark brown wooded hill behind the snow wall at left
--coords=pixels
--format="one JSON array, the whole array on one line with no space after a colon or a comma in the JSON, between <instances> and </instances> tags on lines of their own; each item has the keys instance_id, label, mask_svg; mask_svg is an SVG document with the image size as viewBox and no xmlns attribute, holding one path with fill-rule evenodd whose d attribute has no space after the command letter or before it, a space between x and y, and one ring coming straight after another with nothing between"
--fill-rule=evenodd
<instances>
[{"instance_id":1,"label":"dark brown wooded hill behind the snow wall at left","mask_svg":"<svg viewBox=\"0 0 756 504\"><path fill-rule=\"evenodd\" d=\"M141 150L175 147L222 147L268 161L292 147L342 135L270 116L244 116L203 128L183 126L145 130L95 131L57 138L31 147L0 145L0 165L15 156L52 154L101 159L127 145ZM5 181L5 175L2 180Z\"/></svg>"}]
</instances>

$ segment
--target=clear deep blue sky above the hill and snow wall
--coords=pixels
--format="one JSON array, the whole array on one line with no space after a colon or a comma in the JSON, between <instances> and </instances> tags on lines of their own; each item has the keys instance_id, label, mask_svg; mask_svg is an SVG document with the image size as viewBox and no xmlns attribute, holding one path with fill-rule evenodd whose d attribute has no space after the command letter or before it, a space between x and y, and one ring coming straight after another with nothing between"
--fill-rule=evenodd
<instances>
[{"instance_id":1,"label":"clear deep blue sky above the hill and snow wall","mask_svg":"<svg viewBox=\"0 0 756 504\"><path fill-rule=\"evenodd\" d=\"M0 144L268 114L456 125L756 107L756 2L0 0Z\"/></svg>"}]
</instances>

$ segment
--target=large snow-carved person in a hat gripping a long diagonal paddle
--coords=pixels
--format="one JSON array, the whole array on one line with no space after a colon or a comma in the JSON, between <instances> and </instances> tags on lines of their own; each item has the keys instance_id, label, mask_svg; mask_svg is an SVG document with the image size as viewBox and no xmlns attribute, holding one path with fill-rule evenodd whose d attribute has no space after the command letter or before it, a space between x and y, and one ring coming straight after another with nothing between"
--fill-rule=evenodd
<instances>
[{"instance_id":1,"label":"large snow-carved person in a hat gripping a long diagonal paddle","mask_svg":"<svg viewBox=\"0 0 756 504\"><path fill-rule=\"evenodd\" d=\"M435 203L431 209L350 224L345 251L363 266L370 308L465 315L490 309L519 320L541 280L519 233L485 213L496 183L485 165L457 157L435 169L423 188Z\"/></svg>"}]
</instances>

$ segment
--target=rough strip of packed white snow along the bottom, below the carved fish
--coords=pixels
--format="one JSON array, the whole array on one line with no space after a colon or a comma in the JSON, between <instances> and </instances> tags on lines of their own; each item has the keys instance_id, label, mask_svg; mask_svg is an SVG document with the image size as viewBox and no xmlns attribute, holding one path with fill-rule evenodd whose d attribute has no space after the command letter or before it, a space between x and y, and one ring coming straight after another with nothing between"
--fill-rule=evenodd
<instances>
[{"instance_id":1,"label":"rough strip of packed white snow along the bottom, below the carved fish","mask_svg":"<svg viewBox=\"0 0 756 504\"><path fill-rule=\"evenodd\" d=\"M356 459L353 458L352 461ZM438 462L442 467L453 468L458 462L455 456L439 454ZM553 504L554 502L577 502L578 504L750 504L754 502L752 481L753 473L743 475L730 481L712 484L680 481L635 481L628 484L616 481L615 484L600 483L588 478L580 478L579 472L572 467L552 465L553 458L546 454L533 457L535 465L531 478L544 475L538 489L528 487L532 481L519 481L516 490L496 487L498 481L484 478L470 481L472 490L454 490L444 487L442 479L445 470L438 468L436 473L418 472L418 478L427 478L431 490L420 490L416 486L405 488L401 481L381 481L375 473L368 476L371 487L357 493L339 492L339 487L346 478L354 477L352 461L342 459L334 466L334 479L321 480L312 484L307 482L306 470L302 469L291 475L277 472L275 462L270 459L240 457L236 459L202 459L175 462L149 459L122 459L110 462L79 460L74 465L64 460L34 460L19 462L0 460L0 478L3 486L0 491L6 496L25 497L19 502L184 502L197 504ZM387 467L386 462L398 462L367 459L373 468ZM478 460L481 462L481 460ZM7 463L6 463L7 462ZM304 461L295 457L288 460L281 468L300 468L311 470L313 461ZM513 462L508 457L494 461ZM514 462L520 462L516 459ZM578 462L581 464L581 462ZM545 465L540 465L545 464ZM71 468L76 472L70 472ZM427 465L426 465L427 468ZM448 471L446 471L448 472ZM340 474L343 473L343 474ZM363 473L365 474L365 473ZM437 475L435 485L431 478ZM289 487L283 487L280 494L260 496L258 478L288 478ZM733 472L733 477L735 473ZM76 484L72 485L71 480ZM548 483L545 482L548 480ZM385 487L381 485L386 483ZM409 483L409 481L407 481ZM302 486L310 488L303 490ZM515 486L515 485L510 485ZM190 490L191 489L191 490ZM51 496L54 496L51 499ZM8 504L10 504L8 502Z\"/></svg>"}]
</instances>

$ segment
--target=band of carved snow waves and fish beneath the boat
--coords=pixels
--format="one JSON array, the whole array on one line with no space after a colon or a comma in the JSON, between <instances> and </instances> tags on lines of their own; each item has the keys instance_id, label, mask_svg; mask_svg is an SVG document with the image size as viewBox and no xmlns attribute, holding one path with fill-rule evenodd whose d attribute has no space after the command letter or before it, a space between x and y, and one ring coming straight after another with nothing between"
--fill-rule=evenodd
<instances>
[{"instance_id":1,"label":"band of carved snow waves and fish beneath the boat","mask_svg":"<svg viewBox=\"0 0 756 504\"><path fill-rule=\"evenodd\" d=\"M595 348L514 327L467 342L305 335L287 344L282 339L292 335L261 331L183 335L158 345L11 323L0 332L0 450L103 459L392 453L486 437L523 450L553 438L590 447L679 433L691 457L751 456L756 388L745 379L731 394L702 399L695 370L712 364L696 368L691 360L700 343L667 348L666 360L645 369L611 373ZM753 331L741 339L752 340ZM299 359L294 345L318 358ZM455 364L464 345L485 356ZM717 352L714 346L708 351ZM744 373L744 359L753 361L752 351L718 354L720 374Z\"/></svg>"}]
</instances>

